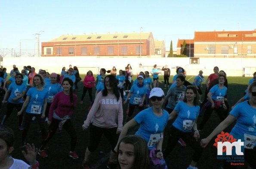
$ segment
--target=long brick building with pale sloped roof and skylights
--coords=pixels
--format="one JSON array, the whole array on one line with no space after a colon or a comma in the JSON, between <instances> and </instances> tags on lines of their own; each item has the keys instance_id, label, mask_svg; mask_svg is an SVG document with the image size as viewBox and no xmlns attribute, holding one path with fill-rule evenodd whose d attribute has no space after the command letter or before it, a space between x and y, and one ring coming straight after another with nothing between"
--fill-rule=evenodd
<instances>
[{"instance_id":1,"label":"long brick building with pale sloped roof and skylights","mask_svg":"<svg viewBox=\"0 0 256 169\"><path fill-rule=\"evenodd\" d=\"M42 42L41 56L136 56L155 55L152 33L62 35ZM164 50L165 47L160 50ZM141 51L141 52L140 52ZM164 51L160 53L164 54Z\"/></svg>"}]
</instances>

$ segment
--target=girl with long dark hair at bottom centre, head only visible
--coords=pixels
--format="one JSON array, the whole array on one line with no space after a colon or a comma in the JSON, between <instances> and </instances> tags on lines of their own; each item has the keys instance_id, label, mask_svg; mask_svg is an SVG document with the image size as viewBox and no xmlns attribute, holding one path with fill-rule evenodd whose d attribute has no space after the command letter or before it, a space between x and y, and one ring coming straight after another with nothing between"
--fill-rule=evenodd
<instances>
[{"instance_id":1,"label":"girl with long dark hair at bottom centre, head only visible","mask_svg":"<svg viewBox=\"0 0 256 169\"><path fill-rule=\"evenodd\" d=\"M145 139L127 135L117 145L118 169L152 169Z\"/></svg>"}]
</instances>

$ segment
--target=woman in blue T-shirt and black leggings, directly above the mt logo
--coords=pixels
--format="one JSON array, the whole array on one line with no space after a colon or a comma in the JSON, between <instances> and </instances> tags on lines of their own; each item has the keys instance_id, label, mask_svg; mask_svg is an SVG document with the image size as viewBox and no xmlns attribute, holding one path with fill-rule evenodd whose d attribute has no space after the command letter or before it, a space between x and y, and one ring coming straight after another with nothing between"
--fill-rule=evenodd
<instances>
[{"instance_id":1,"label":"woman in blue T-shirt and black leggings, directly above the mt logo","mask_svg":"<svg viewBox=\"0 0 256 169\"><path fill-rule=\"evenodd\" d=\"M227 87L224 86L226 77L224 75L219 75L218 79L219 84L213 86L207 94L208 106L205 110L203 121L200 123L200 125L198 125L199 130L203 130L204 125L210 119L213 110L218 114L220 122L222 122L227 117L227 107L224 100L228 90Z\"/></svg>"}]
</instances>

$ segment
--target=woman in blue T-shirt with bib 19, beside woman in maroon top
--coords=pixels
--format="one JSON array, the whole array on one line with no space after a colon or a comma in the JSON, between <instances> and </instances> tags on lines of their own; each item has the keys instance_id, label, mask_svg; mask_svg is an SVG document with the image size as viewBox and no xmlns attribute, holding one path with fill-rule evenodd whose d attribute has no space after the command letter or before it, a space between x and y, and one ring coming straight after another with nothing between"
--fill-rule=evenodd
<instances>
[{"instance_id":1,"label":"woman in blue T-shirt with bib 19, beside woman in maroon top","mask_svg":"<svg viewBox=\"0 0 256 169\"><path fill-rule=\"evenodd\" d=\"M36 74L33 79L33 86L28 89L27 98L22 105L22 109L18 112L20 116L23 110L26 111L24 116L24 130L22 132L22 145L25 145L25 139L28 134L30 123L35 116L38 120L40 130L42 133L42 139L46 137L46 129L44 126L45 110L47 105L48 91L45 89L42 76Z\"/></svg>"}]
</instances>

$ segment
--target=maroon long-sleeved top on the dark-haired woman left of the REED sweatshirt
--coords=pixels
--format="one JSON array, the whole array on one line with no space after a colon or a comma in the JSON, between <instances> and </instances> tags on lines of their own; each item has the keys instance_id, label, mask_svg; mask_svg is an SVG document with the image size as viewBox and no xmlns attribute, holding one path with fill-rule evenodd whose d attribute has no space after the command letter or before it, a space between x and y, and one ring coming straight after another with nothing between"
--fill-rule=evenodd
<instances>
[{"instance_id":1,"label":"maroon long-sleeved top on the dark-haired woman left of the REED sweatshirt","mask_svg":"<svg viewBox=\"0 0 256 169\"><path fill-rule=\"evenodd\" d=\"M77 103L77 95L73 94L73 106L70 103L70 96L65 95L64 92L57 93L52 101L50 110L49 110L49 121L52 121L52 115L53 111L58 115L60 118L63 118L64 116L68 115L71 117L71 115L74 113L74 107Z\"/></svg>"}]
</instances>

